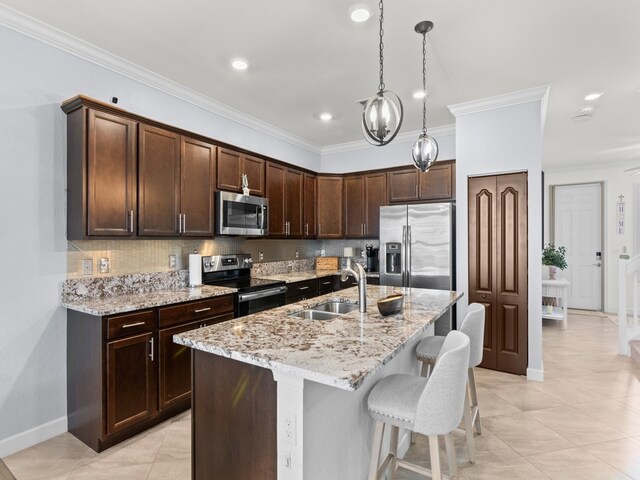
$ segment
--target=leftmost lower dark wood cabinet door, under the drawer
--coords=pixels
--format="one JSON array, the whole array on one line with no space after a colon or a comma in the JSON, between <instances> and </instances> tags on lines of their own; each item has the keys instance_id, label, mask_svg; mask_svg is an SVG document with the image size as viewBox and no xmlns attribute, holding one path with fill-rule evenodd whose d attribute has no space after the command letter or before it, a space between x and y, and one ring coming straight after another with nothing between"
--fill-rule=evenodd
<instances>
[{"instance_id":1,"label":"leftmost lower dark wood cabinet door, under the drawer","mask_svg":"<svg viewBox=\"0 0 640 480\"><path fill-rule=\"evenodd\" d=\"M106 343L107 435L155 414L153 334Z\"/></svg>"}]
</instances>

